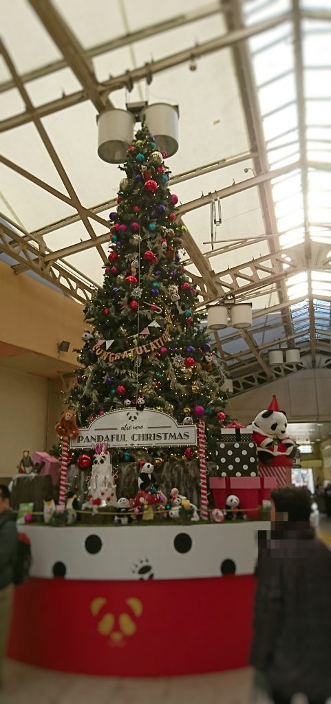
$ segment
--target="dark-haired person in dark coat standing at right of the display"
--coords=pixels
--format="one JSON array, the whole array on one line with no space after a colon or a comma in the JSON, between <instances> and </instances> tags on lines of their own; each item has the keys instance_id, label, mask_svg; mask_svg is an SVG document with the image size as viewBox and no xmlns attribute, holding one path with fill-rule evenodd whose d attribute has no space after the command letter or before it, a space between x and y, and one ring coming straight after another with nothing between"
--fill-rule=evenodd
<instances>
[{"instance_id":1,"label":"dark-haired person in dark coat standing at right of the display","mask_svg":"<svg viewBox=\"0 0 331 704\"><path fill-rule=\"evenodd\" d=\"M272 530L259 543L251 665L275 704L331 696L331 551L310 525L307 489L271 494Z\"/></svg>"}]
</instances>

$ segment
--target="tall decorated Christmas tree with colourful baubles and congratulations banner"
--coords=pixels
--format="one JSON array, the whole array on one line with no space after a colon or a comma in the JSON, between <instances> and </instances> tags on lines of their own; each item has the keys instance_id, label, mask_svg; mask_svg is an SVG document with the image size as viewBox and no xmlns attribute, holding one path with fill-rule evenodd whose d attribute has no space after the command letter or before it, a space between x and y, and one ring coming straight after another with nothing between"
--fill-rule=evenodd
<instances>
[{"instance_id":1,"label":"tall decorated Christmas tree with colourful baubles and congratulations banner","mask_svg":"<svg viewBox=\"0 0 331 704\"><path fill-rule=\"evenodd\" d=\"M85 308L92 329L83 335L81 368L68 398L80 427L98 414L136 404L180 423L204 420L212 434L219 427L225 377L195 310L198 292L181 264L185 225L168 188L165 156L143 125L120 167L125 177L117 211L110 213L104 285ZM168 458L169 449L162 454ZM184 454L190 458L194 451L186 448ZM130 450L113 458L141 455Z\"/></svg>"}]
</instances>

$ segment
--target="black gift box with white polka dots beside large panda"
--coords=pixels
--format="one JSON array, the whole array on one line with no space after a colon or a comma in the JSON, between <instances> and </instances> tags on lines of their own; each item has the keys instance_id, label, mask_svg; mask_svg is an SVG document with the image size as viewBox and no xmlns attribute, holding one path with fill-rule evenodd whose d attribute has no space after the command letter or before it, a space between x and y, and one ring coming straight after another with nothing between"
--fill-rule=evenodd
<instances>
[{"instance_id":1,"label":"black gift box with white polka dots beside large panda","mask_svg":"<svg viewBox=\"0 0 331 704\"><path fill-rule=\"evenodd\" d=\"M220 477L257 477L256 444L252 440L218 443L216 467Z\"/></svg>"}]
</instances>

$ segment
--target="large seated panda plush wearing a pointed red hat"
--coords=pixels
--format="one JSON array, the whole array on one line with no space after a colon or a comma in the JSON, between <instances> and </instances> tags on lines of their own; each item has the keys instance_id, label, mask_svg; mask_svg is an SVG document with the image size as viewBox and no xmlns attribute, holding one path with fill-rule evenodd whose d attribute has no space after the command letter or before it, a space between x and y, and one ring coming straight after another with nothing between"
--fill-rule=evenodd
<instances>
[{"instance_id":1,"label":"large seated panda plush wearing a pointed red hat","mask_svg":"<svg viewBox=\"0 0 331 704\"><path fill-rule=\"evenodd\" d=\"M257 446L258 460L265 465L275 458L293 458L296 444L287 433L287 417L280 410L276 396L268 408L261 410L251 424L253 439Z\"/></svg>"}]
</instances>

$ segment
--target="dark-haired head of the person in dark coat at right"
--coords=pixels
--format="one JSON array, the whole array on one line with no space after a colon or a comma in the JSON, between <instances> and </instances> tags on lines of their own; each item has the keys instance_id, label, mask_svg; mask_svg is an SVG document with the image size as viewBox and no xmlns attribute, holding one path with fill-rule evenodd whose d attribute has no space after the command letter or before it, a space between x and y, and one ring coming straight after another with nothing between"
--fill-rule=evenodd
<instances>
[{"instance_id":1,"label":"dark-haired head of the person in dark coat at right","mask_svg":"<svg viewBox=\"0 0 331 704\"><path fill-rule=\"evenodd\" d=\"M271 520L296 524L308 523L311 494L300 486L279 486L271 492Z\"/></svg>"}]
</instances>

